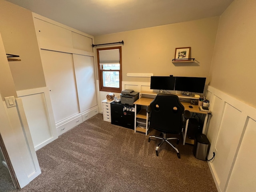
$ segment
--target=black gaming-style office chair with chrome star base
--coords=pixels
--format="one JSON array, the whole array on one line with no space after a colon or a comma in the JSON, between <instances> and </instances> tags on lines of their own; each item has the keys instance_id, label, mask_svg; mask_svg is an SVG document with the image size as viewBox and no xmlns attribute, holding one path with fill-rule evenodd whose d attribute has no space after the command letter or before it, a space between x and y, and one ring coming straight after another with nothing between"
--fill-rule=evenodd
<instances>
[{"instance_id":1,"label":"black gaming-style office chair with chrome star base","mask_svg":"<svg viewBox=\"0 0 256 192\"><path fill-rule=\"evenodd\" d=\"M177 156L180 158L178 149L169 142L169 140L177 140L178 144L179 139L176 137L166 138L166 134L182 133L184 120L190 118L190 112L188 110L184 111L184 106L180 103L178 96L174 94L158 94L147 107L147 112L149 113L149 128L156 129L163 135L163 137L149 136L148 138L148 142L150 142L152 137L162 140L156 146L156 156L158 156L158 148L166 141L176 150Z\"/></svg>"}]
</instances>

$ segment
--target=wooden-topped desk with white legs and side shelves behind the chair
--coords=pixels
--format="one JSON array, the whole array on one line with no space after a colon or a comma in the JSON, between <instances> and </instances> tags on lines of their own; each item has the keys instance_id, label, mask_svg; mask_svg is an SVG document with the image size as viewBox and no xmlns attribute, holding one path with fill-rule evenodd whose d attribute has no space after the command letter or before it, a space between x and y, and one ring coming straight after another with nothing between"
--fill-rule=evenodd
<instances>
[{"instance_id":1,"label":"wooden-topped desk with white legs and side shelves behind the chair","mask_svg":"<svg viewBox=\"0 0 256 192\"><path fill-rule=\"evenodd\" d=\"M137 114L136 108L137 105L140 106L149 106L150 103L154 100L154 98L140 98L138 100L136 100L134 102L135 105L135 114ZM204 134L206 131L206 123L208 120L208 116L209 116L209 112L204 112L204 111L200 111L199 107L197 105L193 105L193 108L189 108L188 106L191 105L188 102L181 102L181 104L184 106L185 110L188 110L190 112L194 112L194 113L199 113L199 114L205 114L205 118L204 118L204 126L203 126L203 130L202 133ZM136 126L136 118L142 118L142 119L146 119L146 128L140 128ZM185 145L186 142L186 136L187 136L187 131L188 131L188 121L189 119L186 121L186 127L185 127L185 131L182 131L183 134L183 145ZM142 109L138 112L137 115L135 115L135 120L134 120L134 132L139 131L139 132L144 132L146 135L148 134L148 113L146 112L146 109ZM189 142L190 143L190 142Z\"/></svg>"}]
</instances>

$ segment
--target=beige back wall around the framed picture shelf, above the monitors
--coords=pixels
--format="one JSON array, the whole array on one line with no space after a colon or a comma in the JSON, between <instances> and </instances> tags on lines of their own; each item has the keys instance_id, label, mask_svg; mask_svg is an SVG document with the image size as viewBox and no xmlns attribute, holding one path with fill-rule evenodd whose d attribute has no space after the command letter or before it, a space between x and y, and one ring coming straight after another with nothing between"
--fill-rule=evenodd
<instances>
[{"instance_id":1,"label":"beige back wall around the framed picture shelf, above the monitors","mask_svg":"<svg viewBox=\"0 0 256 192\"><path fill-rule=\"evenodd\" d=\"M123 81L150 82L150 78L127 77L127 73L208 77L218 21L219 17L213 17L96 36L94 42L103 44L124 40ZM173 64L175 48L180 47L191 47L191 57L196 58L196 62Z\"/></svg>"}]
</instances>

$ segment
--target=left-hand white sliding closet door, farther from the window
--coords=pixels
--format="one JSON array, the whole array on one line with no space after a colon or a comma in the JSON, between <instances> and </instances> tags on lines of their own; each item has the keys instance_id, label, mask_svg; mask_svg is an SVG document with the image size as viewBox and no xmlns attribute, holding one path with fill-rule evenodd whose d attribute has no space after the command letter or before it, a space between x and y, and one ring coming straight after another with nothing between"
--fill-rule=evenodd
<instances>
[{"instance_id":1,"label":"left-hand white sliding closet door, farther from the window","mask_svg":"<svg viewBox=\"0 0 256 192\"><path fill-rule=\"evenodd\" d=\"M55 123L79 113L72 54L41 50Z\"/></svg>"}]
</instances>

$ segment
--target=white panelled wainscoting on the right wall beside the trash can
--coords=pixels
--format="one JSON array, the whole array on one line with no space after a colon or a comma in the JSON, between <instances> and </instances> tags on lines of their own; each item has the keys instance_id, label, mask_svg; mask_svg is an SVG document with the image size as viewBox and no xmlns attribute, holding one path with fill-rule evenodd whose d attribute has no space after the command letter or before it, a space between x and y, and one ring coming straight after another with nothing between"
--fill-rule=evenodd
<instances>
[{"instance_id":1,"label":"white panelled wainscoting on the right wall beside the trash can","mask_svg":"<svg viewBox=\"0 0 256 192\"><path fill-rule=\"evenodd\" d=\"M218 191L253 191L256 184L248 179L256 177L256 108L211 86L206 96L212 111L209 158L216 153L208 164Z\"/></svg>"}]
</instances>

